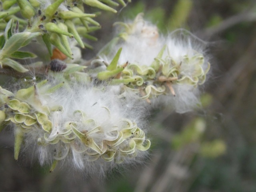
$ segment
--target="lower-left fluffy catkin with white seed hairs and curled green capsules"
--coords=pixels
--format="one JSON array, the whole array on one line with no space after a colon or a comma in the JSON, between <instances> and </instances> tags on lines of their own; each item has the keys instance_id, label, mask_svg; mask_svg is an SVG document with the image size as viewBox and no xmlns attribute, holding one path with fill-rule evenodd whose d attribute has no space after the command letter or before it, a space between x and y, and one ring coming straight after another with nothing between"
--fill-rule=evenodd
<instances>
[{"instance_id":1,"label":"lower-left fluffy catkin with white seed hairs and curled green capsules","mask_svg":"<svg viewBox=\"0 0 256 192\"><path fill-rule=\"evenodd\" d=\"M141 108L123 103L106 86L64 83L60 77L18 90L7 102L16 159L25 146L40 164L52 164L51 170L60 162L104 174L145 156L150 141L137 126Z\"/></svg>"}]
</instances>

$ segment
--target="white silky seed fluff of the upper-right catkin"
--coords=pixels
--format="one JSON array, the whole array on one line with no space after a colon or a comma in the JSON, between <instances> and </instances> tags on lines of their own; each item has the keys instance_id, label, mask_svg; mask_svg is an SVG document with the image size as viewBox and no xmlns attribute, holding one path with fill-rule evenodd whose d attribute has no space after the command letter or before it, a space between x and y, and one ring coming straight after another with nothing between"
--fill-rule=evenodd
<instances>
[{"instance_id":1,"label":"white silky seed fluff of the upper-right catkin","mask_svg":"<svg viewBox=\"0 0 256 192\"><path fill-rule=\"evenodd\" d=\"M198 68L202 68L201 71L203 73L208 72L209 58L206 54L207 43L187 30L178 29L165 37L159 37L157 27L150 22L145 22L142 18L138 19L138 16L133 23L128 22L127 24L131 26L131 30L128 32L126 40L113 46L110 54L100 55L102 60L110 63L114 54L122 47L118 61L120 65L128 61L131 64L150 66L164 45L166 45L162 60L164 62L171 62L172 60L176 63L176 68L179 70L178 78L180 76L186 76L193 80L201 78L195 75ZM203 60L202 65L198 64L199 59L194 59L196 57ZM188 62L182 62L184 58ZM158 77L156 76L156 78ZM152 106L158 107L161 104L169 105L179 113L192 110L194 106L200 104L198 99L200 96L198 87L198 84L201 84L200 81L203 80L200 79L198 83L196 82L194 84L172 84L176 96L174 97L172 94L158 96L158 98L153 99Z\"/></svg>"}]
</instances>

